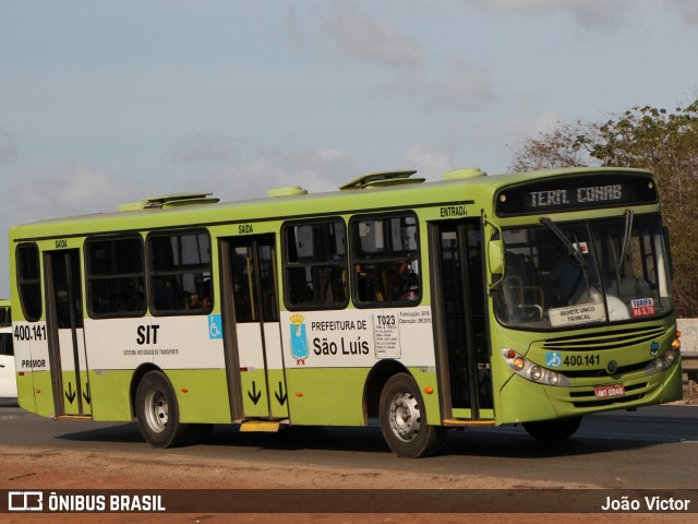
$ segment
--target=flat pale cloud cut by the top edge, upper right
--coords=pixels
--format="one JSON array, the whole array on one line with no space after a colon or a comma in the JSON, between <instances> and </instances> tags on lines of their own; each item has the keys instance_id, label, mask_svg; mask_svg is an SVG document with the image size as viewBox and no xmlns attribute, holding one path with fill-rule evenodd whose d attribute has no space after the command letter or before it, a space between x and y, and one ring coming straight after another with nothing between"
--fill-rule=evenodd
<instances>
[{"instance_id":1,"label":"flat pale cloud cut by the top edge, upper right","mask_svg":"<svg viewBox=\"0 0 698 524\"><path fill-rule=\"evenodd\" d=\"M641 8L634 0L464 0L481 11L530 16L568 13L583 26L627 23Z\"/></svg>"}]
</instances>

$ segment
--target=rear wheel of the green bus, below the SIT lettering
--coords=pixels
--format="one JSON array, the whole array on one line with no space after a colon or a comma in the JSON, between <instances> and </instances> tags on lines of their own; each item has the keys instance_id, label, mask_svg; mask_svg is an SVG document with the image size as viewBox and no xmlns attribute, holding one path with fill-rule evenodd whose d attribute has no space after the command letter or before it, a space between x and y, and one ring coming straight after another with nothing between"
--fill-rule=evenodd
<instances>
[{"instance_id":1,"label":"rear wheel of the green bus, below the SIT lettering","mask_svg":"<svg viewBox=\"0 0 698 524\"><path fill-rule=\"evenodd\" d=\"M141 379L135 409L141 434L153 448L174 448L189 441L192 425L179 421L174 390L161 371L149 371Z\"/></svg>"}]
</instances>

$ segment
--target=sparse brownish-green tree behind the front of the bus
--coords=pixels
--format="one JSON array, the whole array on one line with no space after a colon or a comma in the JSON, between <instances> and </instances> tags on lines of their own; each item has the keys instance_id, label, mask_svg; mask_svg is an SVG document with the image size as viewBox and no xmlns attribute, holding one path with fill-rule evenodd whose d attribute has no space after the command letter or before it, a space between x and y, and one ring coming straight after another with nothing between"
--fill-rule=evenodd
<instances>
[{"instance_id":1,"label":"sparse brownish-green tree behind the front of the bus","mask_svg":"<svg viewBox=\"0 0 698 524\"><path fill-rule=\"evenodd\" d=\"M679 317L698 317L698 99L674 112L635 106L605 122L564 123L527 139L513 169L639 167L654 172L674 267Z\"/></svg>"}]
</instances>

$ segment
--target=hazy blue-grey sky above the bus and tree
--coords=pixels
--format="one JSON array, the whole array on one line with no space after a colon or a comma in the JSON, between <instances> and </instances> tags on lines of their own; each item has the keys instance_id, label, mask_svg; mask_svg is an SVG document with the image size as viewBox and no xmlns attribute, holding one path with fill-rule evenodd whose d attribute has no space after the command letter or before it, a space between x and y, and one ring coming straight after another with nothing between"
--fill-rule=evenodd
<instances>
[{"instance_id":1,"label":"hazy blue-grey sky above the bus and tree","mask_svg":"<svg viewBox=\"0 0 698 524\"><path fill-rule=\"evenodd\" d=\"M698 96L695 0L0 0L8 229L185 191L506 172L557 122Z\"/></svg>"}]
</instances>

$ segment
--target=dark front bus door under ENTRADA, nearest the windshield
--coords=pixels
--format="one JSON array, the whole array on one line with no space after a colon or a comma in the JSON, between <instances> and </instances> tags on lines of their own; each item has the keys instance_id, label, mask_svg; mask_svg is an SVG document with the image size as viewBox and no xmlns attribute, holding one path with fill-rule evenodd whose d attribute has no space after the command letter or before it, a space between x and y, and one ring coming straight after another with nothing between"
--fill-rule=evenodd
<instances>
[{"instance_id":1,"label":"dark front bus door under ENTRADA, nearest the windshield","mask_svg":"<svg viewBox=\"0 0 698 524\"><path fill-rule=\"evenodd\" d=\"M444 419L492 420L481 222L434 223L430 245Z\"/></svg>"}]
</instances>

